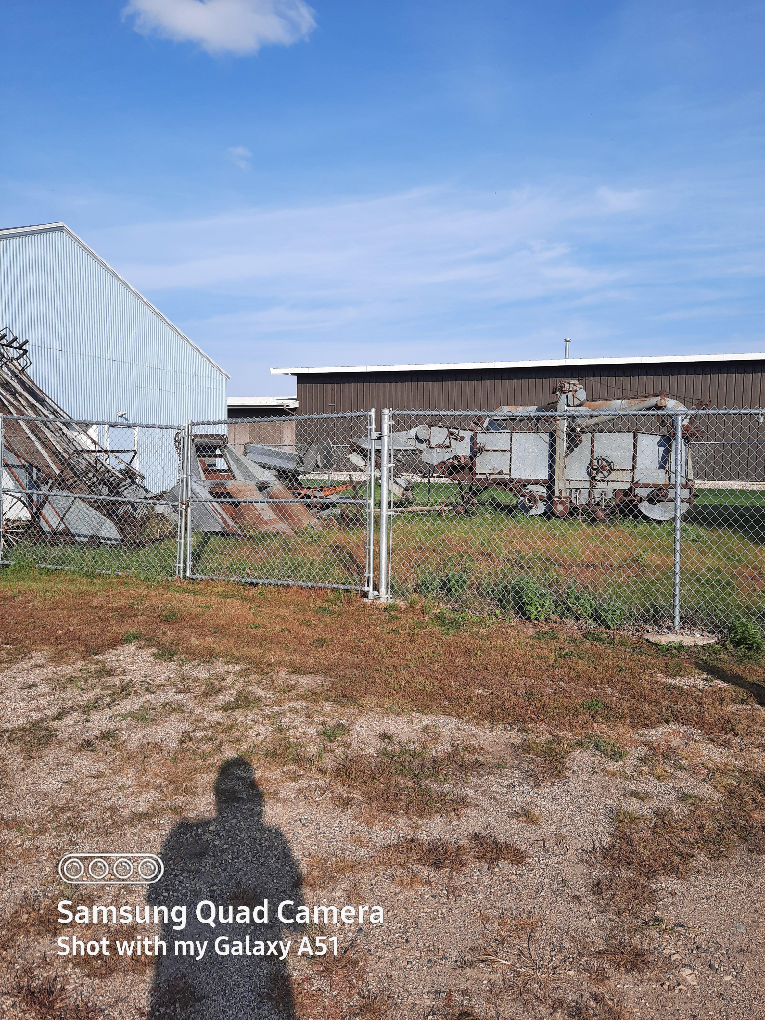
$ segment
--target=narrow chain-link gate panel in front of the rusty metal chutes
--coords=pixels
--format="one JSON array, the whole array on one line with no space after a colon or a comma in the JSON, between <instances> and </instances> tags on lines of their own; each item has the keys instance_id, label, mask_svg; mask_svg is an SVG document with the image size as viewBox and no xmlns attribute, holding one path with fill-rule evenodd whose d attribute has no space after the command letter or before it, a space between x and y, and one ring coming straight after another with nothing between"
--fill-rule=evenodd
<instances>
[{"instance_id":1,"label":"narrow chain-link gate panel in front of the rusty metal chutes","mask_svg":"<svg viewBox=\"0 0 765 1020\"><path fill-rule=\"evenodd\" d=\"M190 422L180 572L373 590L374 412Z\"/></svg>"}]
</instances>

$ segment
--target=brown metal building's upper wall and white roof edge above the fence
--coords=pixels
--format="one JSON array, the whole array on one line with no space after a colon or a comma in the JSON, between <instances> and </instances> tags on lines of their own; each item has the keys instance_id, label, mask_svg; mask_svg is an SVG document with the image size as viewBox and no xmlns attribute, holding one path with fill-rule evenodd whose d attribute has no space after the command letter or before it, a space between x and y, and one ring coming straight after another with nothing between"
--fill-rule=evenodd
<instances>
[{"instance_id":1,"label":"brown metal building's upper wall and white roof edge above the fence","mask_svg":"<svg viewBox=\"0 0 765 1020\"><path fill-rule=\"evenodd\" d=\"M764 371L765 354L271 368L274 375L297 376L299 414L545 405L563 378L577 378L591 400L663 393L686 407L759 408L765 405Z\"/></svg>"}]
</instances>

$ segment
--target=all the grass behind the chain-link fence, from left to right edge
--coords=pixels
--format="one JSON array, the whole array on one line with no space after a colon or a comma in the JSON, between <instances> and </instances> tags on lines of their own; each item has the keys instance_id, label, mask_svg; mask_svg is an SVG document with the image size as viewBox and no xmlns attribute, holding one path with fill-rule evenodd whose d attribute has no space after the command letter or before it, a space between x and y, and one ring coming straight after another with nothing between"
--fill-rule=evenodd
<instances>
[{"instance_id":1,"label":"all the grass behind the chain-link fence, from left to right edge","mask_svg":"<svg viewBox=\"0 0 765 1020\"><path fill-rule=\"evenodd\" d=\"M478 494L469 513L442 513L459 487L434 482L432 513L393 517L391 585L455 612L565 618L613 628L664 626L672 615L672 523L643 517L603 523L578 516L526 517L509 493ZM413 505L427 504L417 483ZM411 504L409 504L411 505ZM378 526L378 520L377 520ZM323 521L293 537L193 539L197 575L361 588L363 521ZM19 563L79 573L162 580L174 574L174 538L140 548L6 545ZM681 611L685 626L726 633L733 619L765 625L765 493L701 490L682 521Z\"/></svg>"}]
</instances>

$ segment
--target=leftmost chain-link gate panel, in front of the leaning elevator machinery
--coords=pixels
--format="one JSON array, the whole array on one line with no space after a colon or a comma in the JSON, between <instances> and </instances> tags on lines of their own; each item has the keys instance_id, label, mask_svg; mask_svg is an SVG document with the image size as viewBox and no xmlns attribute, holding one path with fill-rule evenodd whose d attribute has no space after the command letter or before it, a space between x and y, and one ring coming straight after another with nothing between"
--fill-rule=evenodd
<instances>
[{"instance_id":1,"label":"leftmost chain-link gate panel, in front of the leaning elevator machinery","mask_svg":"<svg viewBox=\"0 0 765 1020\"><path fill-rule=\"evenodd\" d=\"M176 572L177 426L0 415L0 561Z\"/></svg>"}]
</instances>

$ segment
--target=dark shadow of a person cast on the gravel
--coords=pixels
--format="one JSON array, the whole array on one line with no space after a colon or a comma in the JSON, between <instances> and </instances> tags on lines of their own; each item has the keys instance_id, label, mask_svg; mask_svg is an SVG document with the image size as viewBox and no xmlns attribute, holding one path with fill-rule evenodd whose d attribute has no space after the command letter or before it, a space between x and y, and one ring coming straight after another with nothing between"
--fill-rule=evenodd
<instances>
[{"instance_id":1,"label":"dark shadow of a person cast on the gravel","mask_svg":"<svg viewBox=\"0 0 765 1020\"><path fill-rule=\"evenodd\" d=\"M160 948L155 961L150 1020L294 1020L282 957L287 940L294 954L299 939L296 945L295 926L283 925L276 909L292 900L288 916L294 916L302 903L300 870L282 830L264 825L262 794L243 758L221 766L215 800L214 818L184 820L171 830L160 851L164 875L148 889L152 917L154 906L168 912L165 920L160 911L166 954ZM214 905L214 927L197 916L205 900ZM259 923L265 901L267 920ZM186 927L175 930L171 910L182 905ZM205 906L202 917L211 917L212 909ZM216 939L227 955L215 952Z\"/></svg>"}]
</instances>

